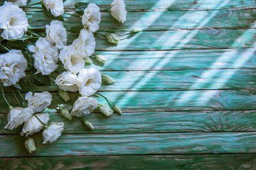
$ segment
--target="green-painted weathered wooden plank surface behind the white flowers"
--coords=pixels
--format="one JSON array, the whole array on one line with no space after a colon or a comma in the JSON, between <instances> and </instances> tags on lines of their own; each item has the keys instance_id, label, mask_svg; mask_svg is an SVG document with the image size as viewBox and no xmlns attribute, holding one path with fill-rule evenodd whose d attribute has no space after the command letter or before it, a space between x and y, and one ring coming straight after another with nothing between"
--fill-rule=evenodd
<instances>
[{"instance_id":1,"label":"green-painted weathered wooden plank surface behind the white flowers","mask_svg":"<svg viewBox=\"0 0 256 170\"><path fill-rule=\"evenodd\" d=\"M255 169L255 0L126 0L123 25L106 12L112 0L89 2L102 10L101 30L143 29L117 46L95 36L108 62L92 67L116 80L100 91L124 114L88 115L93 131L62 118L63 135L51 145L33 135L28 154L21 128L4 129L1 98L0 169ZM33 28L48 24L41 11L26 13ZM64 18L68 29L80 22Z\"/></svg>"}]
</instances>

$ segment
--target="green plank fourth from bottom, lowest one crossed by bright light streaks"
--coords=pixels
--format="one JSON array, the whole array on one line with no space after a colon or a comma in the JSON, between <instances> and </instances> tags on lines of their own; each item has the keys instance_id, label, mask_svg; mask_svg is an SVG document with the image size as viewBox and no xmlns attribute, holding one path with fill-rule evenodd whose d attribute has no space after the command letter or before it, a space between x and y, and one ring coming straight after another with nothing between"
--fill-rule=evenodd
<instances>
[{"instance_id":1,"label":"green plank fourth from bottom, lowest one crossed by bright light streaks","mask_svg":"<svg viewBox=\"0 0 256 170\"><path fill-rule=\"evenodd\" d=\"M138 80L139 81L139 80ZM53 103L65 103L57 93ZM256 90L199 90L199 91L106 91L101 92L125 112L140 111L246 111L256 110ZM70 95L75 99L74 95ZM9 103L17 106L13 94L6 93ZM98 98L100 103L105 99ZM1 98L0 113L8 112L8 106ZM72 101L70 101L72 102Z\"/></svg>"}]
</instances>

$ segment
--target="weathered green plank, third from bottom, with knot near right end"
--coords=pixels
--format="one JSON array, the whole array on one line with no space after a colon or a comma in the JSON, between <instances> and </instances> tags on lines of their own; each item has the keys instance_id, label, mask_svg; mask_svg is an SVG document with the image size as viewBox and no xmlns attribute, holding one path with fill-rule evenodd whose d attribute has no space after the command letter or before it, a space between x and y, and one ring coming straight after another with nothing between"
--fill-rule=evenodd
<instances>
[{"instance_id":1,"label":"weathered green plank, third from bottom, with knot near right end","mask_svg":"<svg viewBox=\"0 0 256 170\"><path fill-rule=\"evenodd\" d=\"M137 132L255 132L256 111L174 111L116 114L107 118L102 113L85 116L94 125L86 130L78 118L68 121L60 114L50 113L50 122L65 122L63 133L137 133ZM123 121L125 120L125 121ZM19 134L22 126L6 130L6 113L0 114L0 134Z\"/></svg>"}]
</instances>

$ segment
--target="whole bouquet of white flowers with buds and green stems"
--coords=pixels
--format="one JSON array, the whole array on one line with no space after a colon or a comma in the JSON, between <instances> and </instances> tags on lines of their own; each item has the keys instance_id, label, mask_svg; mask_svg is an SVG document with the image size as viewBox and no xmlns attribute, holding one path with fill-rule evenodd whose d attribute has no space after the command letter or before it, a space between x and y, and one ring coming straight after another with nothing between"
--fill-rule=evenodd
<instances>
[{"instance_id":1,"label":"whole bouquet of white flowers with buds and green stems","mask_svg":"<svg viewBox=\"0 0 256 170\"><path fill-rule=\"evenodd\" d=\"M28 9L41 10L41 15L47 16L48 24L43 28L33 28L33 23L29 23L26 17ZM119 30L106 30L105 35L97 33L101 21L97 4L78 2L73 9L75 13L66 12L63 0L33 3L29 0L0 0L1 92L9 106L8 123L4 128L13 130L23 125L21 135L26 137L25 147L30 153L36 150L33 133L43 130L43 144L46 144L57 140L64 130L62 122L48 123L48 111L58 110L68 120L73 116L78 117L89 130L94 127L83 117L96 108L106 116L111 116L114 111L122 114L119 106L97 93L102 81L114 84L114 79L102 75L95 68L85 67L85 63L92 63L92 57L97 62L107 62L104 56L95 54L95 34L118 44L121 40L117 35ZM114 0L108 11L119 23L126 21L127 11L123 0ZM64 13L78 17L78 26L65 28ZM78 33L77 37L68 42L72 31ZM140 31L134 28L131 33ZM55 101L58 103L57 110L48 109L53 96L41 88L53 84L58 86L58 94L64 100L63 103ZM17 106L6 100L4 91L13 92ZM25 91L27 93L23 94ZM70 93L73 93L74 101L70 100ZM98 103L97 98L100 97L105 98L109 105ZM72 107L65 102L72 103Z\"/></svg>"}]
</instances>

